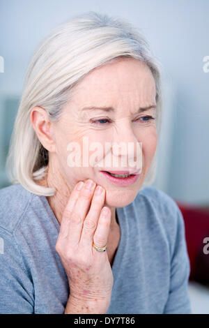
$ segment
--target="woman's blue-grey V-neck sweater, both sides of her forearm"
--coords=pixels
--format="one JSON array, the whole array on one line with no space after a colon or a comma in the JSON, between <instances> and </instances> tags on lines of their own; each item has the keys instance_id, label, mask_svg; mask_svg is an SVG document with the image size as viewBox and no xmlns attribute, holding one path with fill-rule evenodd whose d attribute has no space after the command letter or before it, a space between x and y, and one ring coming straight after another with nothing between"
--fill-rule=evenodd
<instances>
[{"instance_id":1,"label":"woman's blue-grey V-neck sweater, both sides of her forearm","mask_svg":"<svg viewBox=\"0 0 209 328\"><path fill-rule=\"evenodd\" d=\"M59 222L45 196L20 184L0 190L0 313L63 313L70 288L56 253ZM121 239L107 313L192 313L185 225L155 187L116 209Z\"/></svg>"}]
</instances>

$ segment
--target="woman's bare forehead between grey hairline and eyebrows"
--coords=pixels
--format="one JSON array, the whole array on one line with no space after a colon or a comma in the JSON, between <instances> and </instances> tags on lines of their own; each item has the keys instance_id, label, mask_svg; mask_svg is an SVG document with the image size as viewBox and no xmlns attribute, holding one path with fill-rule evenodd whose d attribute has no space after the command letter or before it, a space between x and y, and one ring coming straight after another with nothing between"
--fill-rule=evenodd
<instances>
[{"instance_id":1,"label":"woman's bare forehead between grey hairline and eyebrows","mask_svg":"<svg viewBox=\"0 0 209 328\"><path fill-rule=\"evenodd\" d=\"M92 70L77 84L74 100L85 105L114 105L118 100L155 103L155 80L137 59L118 59Z\"/></svg>"}]
</instances>

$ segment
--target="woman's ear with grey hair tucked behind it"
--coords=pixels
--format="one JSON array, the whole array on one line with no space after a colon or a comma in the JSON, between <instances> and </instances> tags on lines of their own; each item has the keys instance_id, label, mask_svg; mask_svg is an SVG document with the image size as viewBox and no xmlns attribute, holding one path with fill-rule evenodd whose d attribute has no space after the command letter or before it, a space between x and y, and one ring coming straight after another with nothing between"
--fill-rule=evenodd
<instances>
[{"instance_id":1,"label":"woman's ear with grey hair tucked behind it","mask_svg":"<svg viewBox=\"0 0 209 328\"><path fill-rule=\"evenodd\" d=\"M53 140L52 122L49 121L46 110L42 107L33 107L30 114L31 124L38 139L45 149L55 151Z\"/></svg>"}]
</instances>

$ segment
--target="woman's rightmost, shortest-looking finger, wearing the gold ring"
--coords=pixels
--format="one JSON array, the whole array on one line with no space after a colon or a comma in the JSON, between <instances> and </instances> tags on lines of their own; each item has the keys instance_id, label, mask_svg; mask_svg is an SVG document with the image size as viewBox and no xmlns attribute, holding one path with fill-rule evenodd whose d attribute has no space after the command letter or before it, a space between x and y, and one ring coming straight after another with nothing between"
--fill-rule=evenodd
<instances>
[{"instance_id":1,"label":"woman's rightmost, shortest-looking finger, wearing the gold ring","mask_svg":"<svg viewBox=\"0 0 209 328\"><path fill-rule=\"evenodd\" d=\"M93 236L93 243L95 244L95 246L102 248L107 245L110 223L111 223L111 211L109 207L105 206L102 208L100 218L98 221L98 226ZM93 251L98 253L98 251L96 251L95 248L93 248Z\"/></svg>"}]
</instances>

